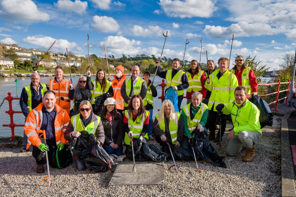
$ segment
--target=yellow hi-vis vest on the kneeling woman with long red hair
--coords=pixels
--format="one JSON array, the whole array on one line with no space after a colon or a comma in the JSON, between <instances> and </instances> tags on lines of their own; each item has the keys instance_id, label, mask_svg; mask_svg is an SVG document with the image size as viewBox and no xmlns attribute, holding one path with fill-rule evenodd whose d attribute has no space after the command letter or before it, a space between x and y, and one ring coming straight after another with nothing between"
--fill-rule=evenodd
<instances>
[{"instance_id":1,"label":"yellow hi-vis vest on the kneeling woman with long red hair","mask_svg":"<svg viewBox=\"0 0 296 197\"><path fill-rule=\"evenodd\" d=\"M124 111L124 114L125 114L126 118L128 119L129 130L133 132L134 137L138 138L138 137L140 137L140 135L142 133L144 121L149 116L149 111L145 110L145 115L144 116L139 115L137 117L137 119L135 119L135 121L133 121L133 117L130 117L129 112L130 112L129 110ZM144 137L149 139L147 133L145 134ZM130 137L127 133L125 133L124 142L125 142L125 144L130 145L131 140L130 140Z\"/></svg>"}]
</instances>

